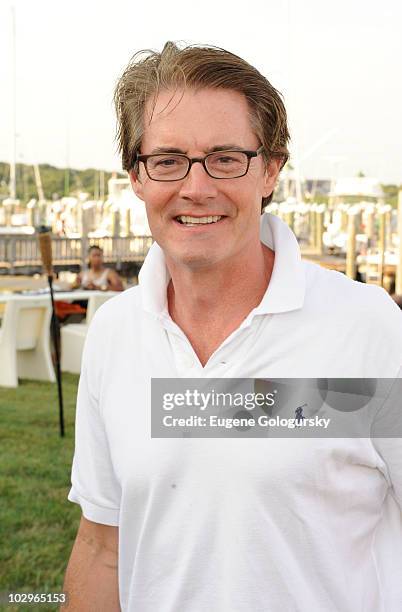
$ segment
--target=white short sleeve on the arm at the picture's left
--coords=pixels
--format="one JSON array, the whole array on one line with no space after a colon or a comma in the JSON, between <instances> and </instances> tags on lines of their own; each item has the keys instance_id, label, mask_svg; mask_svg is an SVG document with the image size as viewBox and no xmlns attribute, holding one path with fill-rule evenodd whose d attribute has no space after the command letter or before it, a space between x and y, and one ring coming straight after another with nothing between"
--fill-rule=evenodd
<instances>
[{"instance_id":1,"label":"white short sleeve on the arm at the picture's left","mask_svg":"<svg viewBox=\"0 0 402 612\"><path fill-rule=\"evenodd\" d=\"M121 488L113 470L99 399L95 395L96 383L99 383L99 347L96 347L95 320L93 324L85 344L78 386L72 487L68 499L81 506L88 520L118 526Z\"/></svg>"}]
</instances>

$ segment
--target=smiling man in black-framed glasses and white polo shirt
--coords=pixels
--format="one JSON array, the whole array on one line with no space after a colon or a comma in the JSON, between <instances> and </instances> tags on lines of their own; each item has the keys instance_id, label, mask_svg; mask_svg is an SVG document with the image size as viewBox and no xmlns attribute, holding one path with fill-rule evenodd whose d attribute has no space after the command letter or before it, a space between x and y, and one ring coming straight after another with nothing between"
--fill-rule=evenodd
<instances>
[{"instance_id":1,"label":"smiling man in black-framed glasses and white polo shirt","mask_svg":"<svg viewBox=\"0 0 402 612\"><path fill-rule=\"evenodd\" d=\"M287 226L261 216L289 134L255 68L167 43L134 57L115 99L123 167L155 244L139 287L103 306L88 334L72 609L396 610L398 440L151 438L150 386L395 377L399 309L382 289L302 262Z\"/></svg>"}]
</instances>

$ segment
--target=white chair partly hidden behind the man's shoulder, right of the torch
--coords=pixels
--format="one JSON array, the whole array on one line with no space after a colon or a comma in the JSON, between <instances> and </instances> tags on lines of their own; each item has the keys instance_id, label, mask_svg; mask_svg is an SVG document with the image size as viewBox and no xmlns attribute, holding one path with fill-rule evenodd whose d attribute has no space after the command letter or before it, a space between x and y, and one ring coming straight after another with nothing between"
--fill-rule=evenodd
<instances>
[{"instance_id":1,"label":"white chair partly hidden behind the man's shoulder, right of the torch","mask_svg":"<svg viewBox=\"0 0 402 612\"><path fill-rule=\"evenodd\" d=\"M81 323L70 323L61 328L61 371L79 374L81 372L81 358L84 349L88 325L92 317L104 302L115 295L114 293L95 293L88 297L87 314Z\"/></svg>"}]
</instances>

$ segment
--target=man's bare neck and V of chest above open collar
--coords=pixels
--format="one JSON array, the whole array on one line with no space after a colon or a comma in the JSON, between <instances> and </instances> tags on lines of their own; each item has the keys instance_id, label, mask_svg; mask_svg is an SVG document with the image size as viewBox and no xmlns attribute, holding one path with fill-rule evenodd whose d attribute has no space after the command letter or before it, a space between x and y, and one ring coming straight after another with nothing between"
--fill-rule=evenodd
<instances>
[{"instance_id":1,"label":"man's bare neck and V of chest above open collar","mask_svg":"<svg viewBox=\"0 0 402 612\"><path fill-rule=\"evenodd\" d=\"M208 270L188 270L168 262L168 307L202 365L261 302L274 265L274 252L260 242L238 261Z\"/></svg>"}]
</instances>

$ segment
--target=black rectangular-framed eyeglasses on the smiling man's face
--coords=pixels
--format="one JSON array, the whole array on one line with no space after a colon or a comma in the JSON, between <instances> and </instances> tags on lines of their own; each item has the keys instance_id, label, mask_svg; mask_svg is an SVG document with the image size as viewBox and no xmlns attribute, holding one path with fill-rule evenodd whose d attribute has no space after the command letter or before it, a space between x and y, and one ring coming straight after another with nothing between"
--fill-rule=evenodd
<instances>
[{"instance_id":1,"label":"black rectangular-framed eyeglasses on the smiling man's face","mask_svg":"<svg viewBox=\"0 0 402 612\"><path fill-rule=\"evenodd\" d=\"M205 172L212 178L240 178L247 174L251 159L260 155L263 150L264 147L261 146L256 151L215 151L205 157L188 157L184 153L137 153L133 166L136 162L142 162L147 175L153 181L181 181L197 162L203 165Z\"/></svg>"}]
</instances>

